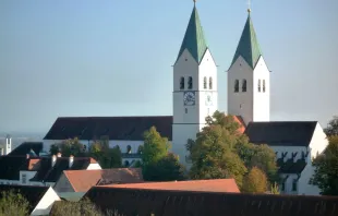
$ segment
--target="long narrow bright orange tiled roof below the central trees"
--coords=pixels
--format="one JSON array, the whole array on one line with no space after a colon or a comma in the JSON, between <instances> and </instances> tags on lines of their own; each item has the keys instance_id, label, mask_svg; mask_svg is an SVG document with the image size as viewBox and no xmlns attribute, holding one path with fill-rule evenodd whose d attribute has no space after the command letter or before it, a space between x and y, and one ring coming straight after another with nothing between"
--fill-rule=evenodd
<instances>
[{"instance_id":1,"label":"long narrow bright orange tiled roof below the central trees","mask_svg":"<svg viewBox=\"0 0 338 216\"><path fill-rule=\"evenodd\" d=\"M147 182L130 184L102 185L107 188L124 189L149 189L149 190L172 190L172 191L209 191L209 192L231 192L240 193L233 179L212 179L194 181L167 181Z\"/></svg>"}]
</instances>

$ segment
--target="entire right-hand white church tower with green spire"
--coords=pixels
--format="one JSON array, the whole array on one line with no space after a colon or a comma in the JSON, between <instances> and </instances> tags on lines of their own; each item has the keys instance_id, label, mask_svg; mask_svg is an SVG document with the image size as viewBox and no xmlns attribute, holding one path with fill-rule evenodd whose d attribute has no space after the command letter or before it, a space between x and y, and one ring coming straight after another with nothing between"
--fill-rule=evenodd
<instances>
[{"instance_id":1,"label":"entire right-hand white church tower with green spire","mask_svg":"<svg viewBox=\"0 0 338 216\"><path fill-rule=\"evenodd\" d=\"M248 10L248 20L228 70L228 113L251 121L269 121L270 72L264 61Z\"/></svg>"}]
</instances>

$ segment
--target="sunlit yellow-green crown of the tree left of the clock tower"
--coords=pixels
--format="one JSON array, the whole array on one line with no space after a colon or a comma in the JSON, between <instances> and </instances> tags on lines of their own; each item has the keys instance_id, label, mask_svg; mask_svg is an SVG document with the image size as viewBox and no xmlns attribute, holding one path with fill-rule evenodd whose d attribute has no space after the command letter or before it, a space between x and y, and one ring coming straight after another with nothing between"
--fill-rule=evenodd
<instances>
[{"instance_id":1,"label":"sunlit yellow-green crown of the tree left of the clock tower","mask_svg":"<svg viewBox=\"0 0 338 216\"><path fill-rule=\"evenodd\" d=\"M161 137L155 127L144 133L142 161L146 166L158 161L168 153L170 145L167 137Z\"/></svg>"}]
</instances>

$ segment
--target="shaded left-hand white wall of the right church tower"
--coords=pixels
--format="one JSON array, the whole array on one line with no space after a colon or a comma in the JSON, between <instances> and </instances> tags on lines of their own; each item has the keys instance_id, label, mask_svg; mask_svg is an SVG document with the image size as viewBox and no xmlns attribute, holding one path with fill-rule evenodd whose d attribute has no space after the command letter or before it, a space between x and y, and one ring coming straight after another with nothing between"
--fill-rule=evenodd
<instances>
[{"instance_id":1,"label":"shaded left-hand white wall of the right church tower","mask_svg":"<svg viewBox=\"0 0 338 216\"><path fill-rule=\"evenodd\" d=\"M246 92L242 92L242 80L246 80ZM239 80L239 92L234 82ZM253 120L253 70L240 56L228 71L228 113L241 116L245 124Z\"/></svg>"}]
</instances>

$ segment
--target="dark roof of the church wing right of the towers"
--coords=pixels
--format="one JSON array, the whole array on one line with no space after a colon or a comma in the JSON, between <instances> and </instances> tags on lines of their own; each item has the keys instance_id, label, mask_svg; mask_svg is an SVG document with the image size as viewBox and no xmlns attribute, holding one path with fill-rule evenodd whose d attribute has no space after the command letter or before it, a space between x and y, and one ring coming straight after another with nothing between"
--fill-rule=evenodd
<instances>
[{"instance_id":1,"label":"dark roof of the church wing right of the towers","mask_svg":"<svg viewBox=\"0 0 338 216\"><path fill-rule=\"evenodd\" d=\"M251 143L270 146L309 146L317 121L250 122L245 134Z\"/></svg>"}]
</instances>

